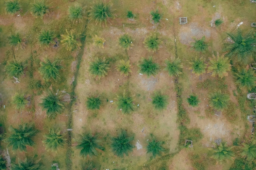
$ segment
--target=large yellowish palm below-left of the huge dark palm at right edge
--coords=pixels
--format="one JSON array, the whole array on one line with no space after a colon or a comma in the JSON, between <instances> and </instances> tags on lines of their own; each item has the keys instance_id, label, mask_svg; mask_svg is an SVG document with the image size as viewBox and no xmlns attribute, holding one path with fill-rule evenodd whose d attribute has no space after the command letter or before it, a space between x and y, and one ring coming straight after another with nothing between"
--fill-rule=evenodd
<instances>
[{"instance_id":1,"label":"large yellowish palm below-left of the huge dark palm at right edge","mask_svg":"<svg viewBox=\"0 0 256 170\"><path fill-rule=\"evenodd\" d=\"M208 70L212 72L213 77L217 75L223 78L228 75L228 71L231 68L230 66L229 59L224 57L224 55L219 56L219 53L217 53L216 57L213 55L213 58L210 58Z\"/></svg>"}]
</instances>

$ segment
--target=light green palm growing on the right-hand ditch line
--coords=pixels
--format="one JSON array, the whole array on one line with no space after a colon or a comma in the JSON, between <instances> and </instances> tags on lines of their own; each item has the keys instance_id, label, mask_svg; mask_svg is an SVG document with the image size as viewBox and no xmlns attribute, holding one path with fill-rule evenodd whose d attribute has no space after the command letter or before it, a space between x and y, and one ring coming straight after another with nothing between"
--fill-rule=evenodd
<instances>
[{"instance_id":1,"label":"light green palm growing on the right-hand ditch line","mask_svg":"<svg viewBox=\"0 0 256 170\"><path fill-rule=\"evenodd\" d=\"M182 69L182 64L179 58L172 59L171 61L165 60L166 67L164 70L168 71L169 76L179 76Z\"/></svg>"}]
</instances>

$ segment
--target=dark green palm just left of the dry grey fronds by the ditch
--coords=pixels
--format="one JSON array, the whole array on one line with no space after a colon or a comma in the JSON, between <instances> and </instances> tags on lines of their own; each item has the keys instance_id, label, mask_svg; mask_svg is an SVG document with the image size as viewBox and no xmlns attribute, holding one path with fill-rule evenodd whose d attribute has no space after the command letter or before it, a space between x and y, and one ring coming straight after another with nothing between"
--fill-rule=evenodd
<instances>
[{"instance_id":1,"label":"dark green palm just left of the dry grey fronds by the ditch","mask_svg":"<svg viewBox=\"0 0 256 170\"><path fill-rule=\"evenodd\" d=\"M40 105L43 110L46 110L46 115L49 118L55 119L58 113L61 114L64 104L60 101L60 96L49 92L42 100L43 102Z\"/></svg>"}]
</instances>

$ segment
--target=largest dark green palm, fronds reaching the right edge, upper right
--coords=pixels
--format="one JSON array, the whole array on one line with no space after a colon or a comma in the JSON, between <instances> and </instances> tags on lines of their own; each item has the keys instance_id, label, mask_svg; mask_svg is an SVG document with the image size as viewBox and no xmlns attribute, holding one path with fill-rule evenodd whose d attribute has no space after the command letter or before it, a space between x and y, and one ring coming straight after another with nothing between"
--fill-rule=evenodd
<instances>
[{"instance_id":1,"label":"largest dark green palm, fronds reaching the right edge, upper right","mask_svg":"<svg viewBox=\"0 0 256 170\"><path fill-rule=\"evenodd\" d=\"M252 44L256 44L256 39L251 32L242 35L241 29L237 30L236 34L228 33L234 43L224 43L224 51L228 52L228 57L235 56L238 61L247 63L248 59L252 57L256 48Z\"/></svg>"}]
</instances>

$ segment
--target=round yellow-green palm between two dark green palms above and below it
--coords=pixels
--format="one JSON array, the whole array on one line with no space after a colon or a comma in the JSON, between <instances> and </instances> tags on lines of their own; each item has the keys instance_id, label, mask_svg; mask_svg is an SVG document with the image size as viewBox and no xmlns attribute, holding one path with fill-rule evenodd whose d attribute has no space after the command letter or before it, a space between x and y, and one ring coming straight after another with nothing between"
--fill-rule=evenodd
<instances>
[{"instance_id":1,"label":"round yellow-green palm between two dark green palms above and below it","mask_svg":"<svg viewBox=\"0 0 256 170\"><path fill-rule=\"evenodd\" d=\"M151 34L145 37L143 43L145 44L147 50L152 50L155 52L159 49L159 45L162 43L162 41L159 39L157 34Z\"/></svg>"}]
</instances>

